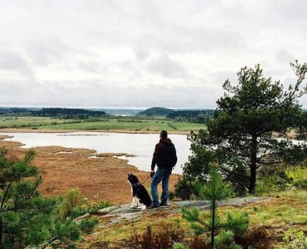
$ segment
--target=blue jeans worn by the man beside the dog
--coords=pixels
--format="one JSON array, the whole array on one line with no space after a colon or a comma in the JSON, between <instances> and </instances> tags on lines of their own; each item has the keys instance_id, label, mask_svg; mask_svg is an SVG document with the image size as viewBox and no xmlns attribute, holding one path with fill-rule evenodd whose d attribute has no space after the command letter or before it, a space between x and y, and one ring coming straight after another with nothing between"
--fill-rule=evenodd
<instances>
[{"instance_id":1,"label":"blue jeans worn by the man beside the dog","mask_svg":"<svg viewBox=\"0 0 307 249\"><path fill-rule=\"evenodd\" d=\"M153 198L153 205L158 206L158 184L162 181L162 195L161 204L168 202L168 180L170 180L170 170L158 168L151 180L151 197Z\"/></svg>"}]
</instances>

